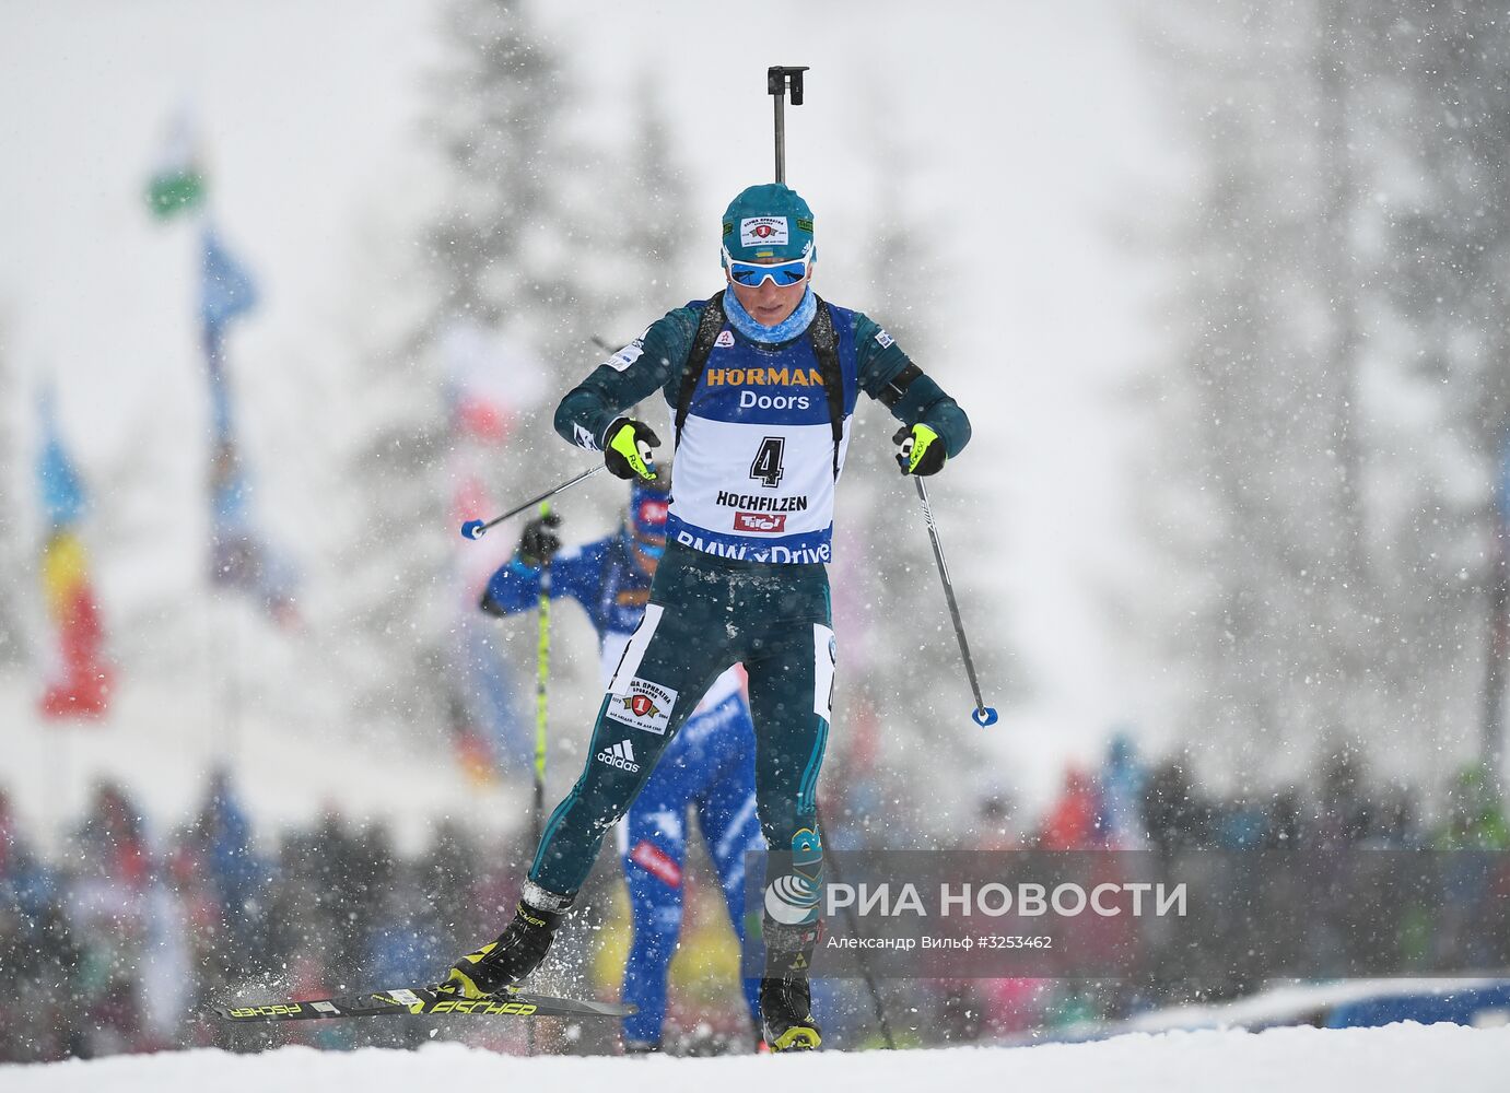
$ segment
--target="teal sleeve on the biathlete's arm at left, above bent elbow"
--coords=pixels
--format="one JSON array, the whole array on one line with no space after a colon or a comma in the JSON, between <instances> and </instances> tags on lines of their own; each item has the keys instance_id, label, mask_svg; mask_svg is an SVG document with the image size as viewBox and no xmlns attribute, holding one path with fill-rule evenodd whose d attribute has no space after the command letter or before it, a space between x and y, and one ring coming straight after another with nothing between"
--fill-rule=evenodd
<instances>
[{"instance_id":1,"label":"teal sleeve on the biathlete's arm at left, above bent elbow","mask_svg":"<svg viewBox=\"0 0 1510 1093\"><path fill-rule=\"evenodd\" d=\"M699 311L676 308L598 365L556 408L556 432L589 451L602 450L602 433L616 417L681 374Z\"/></svg>"}]
</instances>

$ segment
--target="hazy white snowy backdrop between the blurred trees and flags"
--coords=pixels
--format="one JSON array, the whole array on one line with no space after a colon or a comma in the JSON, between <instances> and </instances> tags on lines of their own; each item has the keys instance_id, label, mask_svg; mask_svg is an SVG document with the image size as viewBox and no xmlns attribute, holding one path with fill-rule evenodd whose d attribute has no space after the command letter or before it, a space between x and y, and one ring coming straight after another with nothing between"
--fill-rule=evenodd
<instances>
[{"instance_id":1,"label":"hazy white snowy backdrop between the blurred trees and flags","mask_svg":"<svg viewBox=\"0 0 1510 1093\"><path fill-rule=\"evenodd\" d=\"M757 18L695 3L535 8L566 60L569 122L583 133L612 143L633 122L625 89L654 85L686 165L675 226L707 243L708 257L673 272L657 297L666 306L717 287L711 225L734 192L772 169L767 63L812 68L808 104L788 109L790 178L818 210L827 291L882 322L847 255L877 231L888 178L901 180L901 213L936 251L935 276L888 288L929 309L942 335L923 364L975 424L968 457L935 486L945 545L972 640L988 658L992 646L1010 651L1028 685L1025 702L1010 702L983 679L1004 720L988 741L997 768L982 782L1042 803L1066 758L1099 753L1114 722L1139 717L1143 694L1098 599L1125 580L1134 551L1126 477L1137 423L1119 389L1158 346L1160 260L1142 240L1182 175L1132 12L1024 3L941 20L901 3L775 5ZM35 601L30 391L50 377L94 491L85 534L122 661L119 702L103 726L50 726L32 747L6 749L0 777L27 820L48 824L77 812L101 755L169 817L198 793L183 764L228 753L246 767L260 821L307 815L316 802L300 793L356 809L400 785L411 802L455 794L444 771L409 761L402 782L374 767L358 788L323 785L319 768L337 749L346 759L353 741L390 737L346 723L341 684L313 642L260 639L255 622L201 604L207 400L193 243L183 225L154 223L140 199L168 119L192 109L220 229L263 294L231 335L258 518L305 569L304 610L328 617L341 580L334 540L362 519L335 457L355 442L346 406L364 383L370 332L402 313L418 223L442 184L423 133L436 6L56 3L8 8L0 20L0 316L17 377L5 492L17 501L23 553L8 580ZM615 240L592 245L612 252ZM584 347L583 373L595 353ZM532 482L565 477L569 450L544 421L536 427ZM889 441L874 429L862 442ZM901 486L894 524L921 534ZM48 639L32 607L29 639L41 648ZM562 625L562 646L590 640ZM239 655L279 681L236 725L204 663L226 631L252 631ZM947 623L936 640L953 642ZM953 649L944 652L948 663ZM24 675L3 681L14 731L32 726L33 685ZM583 720L593 700L562 694L562 722ZM966 720L957 669L936 710L921 732L982 732ZM1148 726L1154 744L1160 728ZM308 758L281 764L288 749Z\"/></svg>"}]
</instances>

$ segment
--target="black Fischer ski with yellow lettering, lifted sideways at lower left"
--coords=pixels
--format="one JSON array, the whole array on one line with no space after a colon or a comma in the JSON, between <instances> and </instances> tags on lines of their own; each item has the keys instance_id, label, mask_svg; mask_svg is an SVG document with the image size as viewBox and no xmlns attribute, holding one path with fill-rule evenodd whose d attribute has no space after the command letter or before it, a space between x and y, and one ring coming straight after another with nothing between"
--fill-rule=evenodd
<instances>
[{"instance_id":1,"label":"black Fischer ski with yellow lettering, lifted sideways at lower left","mask_svg":"<svg viewBox=\"0 0 1510 1093\"><path fill-rule=\"evenodd\" d=\"M456 1013L476 1018L627 1018L633 1005L509 990L486 998L456 998L432 987L397 987L365 995L313 998L261 1005L214 1005L222 1021L328 1021L332 1018L402 1018L411 1013Z\"/></svg>"}]
</instances>

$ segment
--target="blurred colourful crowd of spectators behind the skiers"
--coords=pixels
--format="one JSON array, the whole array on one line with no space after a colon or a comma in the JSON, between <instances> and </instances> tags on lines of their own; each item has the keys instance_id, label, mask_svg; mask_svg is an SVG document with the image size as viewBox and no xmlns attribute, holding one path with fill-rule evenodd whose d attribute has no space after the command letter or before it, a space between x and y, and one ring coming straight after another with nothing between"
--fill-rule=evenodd
<instances>
[{"instance_id":1,"label":"blurred colourful crowd of spectators behind the skiers","mask_svg":"<svg viewBox=\"0 0 1510 1093\"><path fill-rule=\"evenodd\" d=\"M892 774L873 770L824 802L835 839L846 848L921 848L895 823ZM1253 989L1261 969L1225 960L1243 930L1276 909L1303 907L1306 930L1291 938L1314 968L1367 966L1412 972L1510 963L1510 827L1492 779L1481 767L1460 771L1445 815L1427 832L1418 791L1371 787L1353 752L1341 752L1314 785L1280 790L1267 800L1208 797L1178 759L1148 770L1129 735L1117 734L1095 774L1071 770L1036 830L1024 838L1013 802L988 791L957 848L1101 850L1151 845L1164 867L1200 877L1231 912L1200 945L1161 944L1131 919L1086 921L1074 933L1081 953L1131 969L1120 981L906 980L882 983L892 1001L892 1034L908 1043L1010 1039L1043 1028L1081 1028L1137 1008L1222 998ZM1379 859L1354 848L1451 850L1441 873L1415 886L1377 873ZM1317 873L1267 874L1210 850L1296 850L1318 854ZM211 1002L320 996L423 980L444 963L458 938L473 936L512 906L522 873L522 844L498 844L456 824L441 824L432 847L400 857L382 824L352 824L328 812L310 830L288 833L276 857L257 853L246 811L231 779L208 782L195 821L157 848L130 794L101 784L57 865L32 851L0 794L0 966L12 990L0 998L0 1061L89 1057L113 1051L233 1043L316 1046L414 1046L426 1022L308 1022L228 1040L223 1027L193 1019ZM1111 862L1105 862L1107 868ZM1098 868L1101 862L1098 859ZM609 868L589 880L586 901L612 913L618 891ZM1267 877L1267 879L1265 879ZM1110 879L1110 876L1108 876ZM1386 885L1395 885L1392 888ZM584 889L586 891L586 889ZM445 892L438 901L436 894ZM1373 894L1357 898L1361 894ZM621 900L622 901L622 900ZM441 913L444 909L444 916ZM622 907L621 907L622 913ZM717 916L693 910L687 953L673 975L678 1049L707 1052L741 1043L737 992L710 992L732 978L719 962L734 948ZM719 925L719 928L711 928ZM710 927L710 928L702 928ZM563 934L559 959L541 989L612 996L622 969L622 922L584 913ZM610 942L604 945L604 942ZM1276 941L1261 956L1274 957ZM1211 954L1208 959L1206 954ZM593 956L598 954L598 956ZM874 1004L859 980L818 980L815 990L835 1046L879 1043ZM536 1046L606 1051L612 1031L541 1025ZM498 1051L524 1051L519 1024L455 1022L441 1036ZM248 1039L251 1037L251 1039Z\"/></svg>"}]
</instances>

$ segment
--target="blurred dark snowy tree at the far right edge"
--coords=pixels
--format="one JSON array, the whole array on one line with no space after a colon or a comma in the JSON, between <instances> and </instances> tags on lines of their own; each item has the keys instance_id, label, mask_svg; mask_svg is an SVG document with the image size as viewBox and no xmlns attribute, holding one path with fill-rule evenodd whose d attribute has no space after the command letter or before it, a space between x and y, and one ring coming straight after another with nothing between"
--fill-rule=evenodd
<instances>
[{"instance_id":1,"label":"blurred dark snowy tree at the far right edge","mask_svg":"<svg viewBox=\"0 0 1510 1093\"><path fill-rule=\"evenodd\" d=\"M1510 435L1505 17L1492 5L1424 3L1385 23L1380 41L1392 60L1380 109L1394 169L1376 219L1392 323L1376 352L1394 405L1409 412L1377 470L1394 483L1383 546L1410 563L1391 589L1410 620L1395 651L1409 658L1401 669L1450 690L1445 716L1460 732L1486 732L1492 755L1504 711L1486 708L1481 658L1495 655L1486 625L1504 580L1496 488Z\"/></svg>"}]
</instances>

